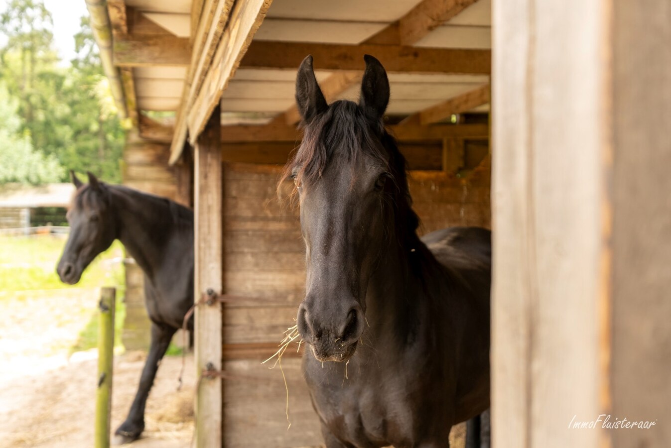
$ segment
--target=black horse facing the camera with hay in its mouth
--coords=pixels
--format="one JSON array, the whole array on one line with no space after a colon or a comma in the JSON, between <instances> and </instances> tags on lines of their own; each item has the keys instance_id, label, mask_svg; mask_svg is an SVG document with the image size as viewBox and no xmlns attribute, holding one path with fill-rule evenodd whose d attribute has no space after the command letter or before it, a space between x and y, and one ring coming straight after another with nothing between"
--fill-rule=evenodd
<instances>
[{"instance_id":1,"label":"black horse facing the camera with hay in its mouth","mask_svg":"<svg viewBox=\"0 0 671 448\"><path fill-rule=\"evenodd\" d=\"M305 378L328 448L446 447L452 425L489 407L491 234L417 236L382 123L389 81L364 59L358 104L327 105L311 56L296 81L304 137L285 178L307 246Z\"/></svg>"}]
</instances>

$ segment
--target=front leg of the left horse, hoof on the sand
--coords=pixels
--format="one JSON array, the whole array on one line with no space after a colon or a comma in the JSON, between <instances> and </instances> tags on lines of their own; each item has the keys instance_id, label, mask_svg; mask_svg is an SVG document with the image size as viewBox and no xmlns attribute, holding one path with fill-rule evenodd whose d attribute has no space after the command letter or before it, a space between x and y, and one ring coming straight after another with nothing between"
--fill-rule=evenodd
<instances>
[{"instance_id":1,"label":"front leg of the left horse, hoof on the sand","mask_svg":"<svg viewBox=\"0 0 671 448\"><path fill-rule=\"evenodd\" d=\"M115 435L117 435L115 441L117 443L132 442L138 439L144 431L144 406L147 403L152 384L154 384L158 363L165 355L168 345L170 345L170 339L176 331L176 329L167 325L152 323L152 345L149 347L149 355L144 364L144 369L142 369L138 393L130 406L125 421L115 431Z\"/></svg>"}]
</instances>

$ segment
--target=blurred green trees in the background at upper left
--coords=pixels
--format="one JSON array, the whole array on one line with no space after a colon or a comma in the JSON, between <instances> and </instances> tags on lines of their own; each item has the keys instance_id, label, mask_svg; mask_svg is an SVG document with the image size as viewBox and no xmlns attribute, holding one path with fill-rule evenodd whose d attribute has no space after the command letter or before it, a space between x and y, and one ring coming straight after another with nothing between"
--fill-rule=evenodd
<instances>
[{"instance_id":1,"label":"blurred green trees in the background at upper left","mask_svg":"<svg viewBox=\"0 0 671 448\"><path fill-rule=\"evenodd\" d=\"M103 76L89 17L81 19L81 30L74 35L76 58L66 68L57 65L52 25L42 0L11 0L0 14L0 32L7 36L7 44L0 48L0 81L7 86L21 119L7 133L23 145L19 145L20 154L30 152L25 149L30 142L32 154L42 154L41 162L49 168L54 168L50 164L56 160L68 170L91 171L108 182L120 182L123 129ZM7 152L7 146L0 147L0 160L10 157ZM40 166L37 159L30 160L31 167ZM54 175L43 179L44 170L38 170L31 180L23 180L24 175L17 181L68 180L67 170L47 171ZM2 182L6 180L0 178Z\"/></svg>"}]
</instances>

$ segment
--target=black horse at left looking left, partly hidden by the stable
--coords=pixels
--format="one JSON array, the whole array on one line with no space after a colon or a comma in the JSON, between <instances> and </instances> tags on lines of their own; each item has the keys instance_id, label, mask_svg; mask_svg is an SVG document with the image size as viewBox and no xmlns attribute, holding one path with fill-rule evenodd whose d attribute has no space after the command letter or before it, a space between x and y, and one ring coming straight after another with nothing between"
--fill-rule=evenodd
<instances>
[{"instance_id":1,"label":"black horse at left looking left, partly hidden by the stable","mask_svg":"<svg viewBox=\"0 0 671 448\"><path fill-rule=\"evenodd\" d=\"M126 443L144 430L144 407L158 363L193 305L193 211L162 197L99 182L91 173L89 184L74 173L72 182L77 190L67 214L70 235L56 268L60 280L79 282L87 266L115 239L144 272L152 343L138 393L115 432L118 441Z\"/></svg>"}]
</instances>

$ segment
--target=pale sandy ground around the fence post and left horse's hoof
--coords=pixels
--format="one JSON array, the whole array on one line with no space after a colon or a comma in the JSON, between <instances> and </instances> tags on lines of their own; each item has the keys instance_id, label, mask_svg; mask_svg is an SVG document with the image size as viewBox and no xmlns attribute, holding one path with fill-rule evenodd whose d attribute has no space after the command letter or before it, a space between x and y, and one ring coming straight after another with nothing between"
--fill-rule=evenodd
<instances>
[{"instance_id":1,"label":"pale sandy ground around the fence post and left horse's hoof","mask_svg":"<svg viewBox=\"0 0 671 448\"><path fill-rule=\"evenodd\" d=\"M95 306L95 290L0 296L1 447L93 447L97 352L70 355L69 347ZM143 352L115 357L112 430L130 408L144 358ZM125 446L189 447L195 374L193 357L186 361L177 392L182 359L164 358L148 400L143 438Z\"/></svg>"}]
</instances>

